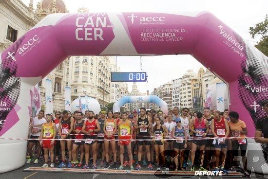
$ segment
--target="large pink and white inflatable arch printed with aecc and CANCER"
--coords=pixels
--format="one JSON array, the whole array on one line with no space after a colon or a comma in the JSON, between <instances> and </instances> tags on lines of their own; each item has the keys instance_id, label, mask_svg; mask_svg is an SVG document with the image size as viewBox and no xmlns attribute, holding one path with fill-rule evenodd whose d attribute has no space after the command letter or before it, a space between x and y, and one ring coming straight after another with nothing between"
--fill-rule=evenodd
<instances>
[{"instance_id":1,"label":"large pink and white inflatable arch printed with aecc and CANCER","mask_svg":"<svg viewBox=\"0 0 268 179\"><path fill-rule=\"evenodd\" d=\"M68 56L164 54L191 54L224 80L230 109L254 136L256 120L266 115L261 102L268 99L267 56L208 12L129 12L51 14L2 52L0 138L27 138L30 90ZM25 163L26 146L23 140L0 140L0 173ZM249 140L249 149L261 145Z\"/></svg>"}]
</instances>

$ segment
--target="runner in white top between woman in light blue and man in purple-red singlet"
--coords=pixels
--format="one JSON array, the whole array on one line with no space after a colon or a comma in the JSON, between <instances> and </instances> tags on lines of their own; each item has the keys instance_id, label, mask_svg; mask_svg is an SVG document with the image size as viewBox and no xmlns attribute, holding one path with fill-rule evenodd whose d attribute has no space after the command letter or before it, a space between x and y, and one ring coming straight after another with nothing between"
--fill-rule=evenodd
<instances>
[{"instance_id":1,"label":"runner in white top between woman in light blue and man in purple-red singlet","mask_svg":"<svg viewBox=\"0 0 268 179\"><path fill-rule=\"evenodd\" d=\"M181 125L183 126L183 128L184 128L184 130L186 131L186 134L187 134L186 137L190 137L189 124L191 124L191 121L187 117L188 112L189 112L189 108L187 108L187 107L182 108L182 110L181 110L182 115L180 117ZM188 157L188 159L186 159L187 162L184 161L184 166L186 165L186 163L188 165L190 165L190 166L192 165L191 160L189 160L190 150L191 150L191 141L187 140L187 149L185 151L185 154L186 154L186 157ZM184 156L181 156L181 157L184 158Z\"/></svg>"}]
</instances>

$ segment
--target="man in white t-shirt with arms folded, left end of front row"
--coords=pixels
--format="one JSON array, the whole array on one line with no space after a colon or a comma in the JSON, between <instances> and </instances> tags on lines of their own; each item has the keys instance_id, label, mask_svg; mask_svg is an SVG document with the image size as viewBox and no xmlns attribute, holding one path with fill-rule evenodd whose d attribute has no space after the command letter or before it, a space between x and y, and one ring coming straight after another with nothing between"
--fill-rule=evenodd
<instances>
[{"instance_id":1,"label":"man in white t-shirt with arms folded, left end of front row","mask_svg":"<svg viewBox=\"0 0 268 179\"><path fill-rule=\"evenodd\" d=\"M38 113L38 117L35 117L33 119L33 124L31 125L31 133L32 134L30 136L30 139L38 139L38 137L40 136L41 130L42 130L42 125L44 123L46 123L46 120L44 118L44 111L40 110ZM34 144L36 144L37 148L38 148L36 160L34 160L34 158L33 158L33 145ZM31 163L32 161L34 161L34 163L38 163L40 153L41 153L41 145L40 145L39 141L29 140L28 153L29 153L30 159L28 159L28 161L26 161L26 163Z\"/></svg>"}]
</instances>

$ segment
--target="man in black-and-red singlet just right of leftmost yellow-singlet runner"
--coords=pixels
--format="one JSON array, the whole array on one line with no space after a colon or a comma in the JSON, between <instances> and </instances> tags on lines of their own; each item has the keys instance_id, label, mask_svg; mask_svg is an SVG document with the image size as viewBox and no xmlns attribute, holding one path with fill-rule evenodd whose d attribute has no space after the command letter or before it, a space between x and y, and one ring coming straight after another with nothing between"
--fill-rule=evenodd
<instances>
[{"instance_id":1,"label":"man in black-and-red singlet just right of leftmost yellow-singlet runner","mask_svg":"<svg viewBox=\"0 0 268 179\"><path fill-rule=\"evenodd\" d=\"M62 111L62 118L58 125L58 134L61 139L71 139L72 136L69 135L72 133L74 129L74 118L68 115L68 111ZM67 143L68 155L69 155L69 163L68 168L71 168L71 161L72 161L72 141L60 141L61 147L61 157L62 162L58 165L58 168L62 168L66 166L66 159L65 159L65 147Z\"/></svg>"}]
</instances>

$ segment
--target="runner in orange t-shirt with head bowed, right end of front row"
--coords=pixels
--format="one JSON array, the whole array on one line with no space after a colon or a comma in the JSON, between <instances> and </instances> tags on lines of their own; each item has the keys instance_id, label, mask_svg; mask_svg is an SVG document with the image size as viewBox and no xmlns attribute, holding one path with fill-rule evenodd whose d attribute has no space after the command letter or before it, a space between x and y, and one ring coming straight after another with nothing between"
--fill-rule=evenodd
<instances>
[{"instance_id":1,"label":"runner in orange t-shirt with head bowed, right end of front row","mask_svg":"<svg viewBox=\"0 0 268 179\"><path fill-rule=\"evenodd\" d=\"M247 172L247 147L248 147L248 141L246 139L246 135L248 134L248 129L244 121L241 121L239 119L239 114L235 111L229 112L230 121L228 121L228 124L230 126L230 133L231 137L237 137L232 139L232 153L231 156L238 156L238 149L240 148L240 156L242 157L242 162L244 166L243 173L246 176L249 176L249 173ZM233 161L233 157L231 157Z\"/></svg>"}]
</instances>

